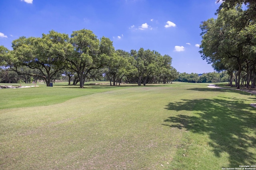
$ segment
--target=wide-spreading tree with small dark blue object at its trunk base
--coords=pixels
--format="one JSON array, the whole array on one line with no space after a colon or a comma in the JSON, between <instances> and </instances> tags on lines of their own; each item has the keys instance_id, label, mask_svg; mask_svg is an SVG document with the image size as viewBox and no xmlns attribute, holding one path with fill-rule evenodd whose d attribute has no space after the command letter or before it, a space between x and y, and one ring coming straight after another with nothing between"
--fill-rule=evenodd
<instances>
[{"instance_id":1,"label":"wide-spreading tree with small dark blue object at its trunk base","mask_svg":"<svg viewBox=\"0 0 256 170\"><path fill-rule=\"evenodd\" d=\"M50 31L38 37L20 37L12 42L13 51L6 58L10 70L20 75L37 76L47 86L64 68L68 35Z\"/></svg>"}]
</instances>

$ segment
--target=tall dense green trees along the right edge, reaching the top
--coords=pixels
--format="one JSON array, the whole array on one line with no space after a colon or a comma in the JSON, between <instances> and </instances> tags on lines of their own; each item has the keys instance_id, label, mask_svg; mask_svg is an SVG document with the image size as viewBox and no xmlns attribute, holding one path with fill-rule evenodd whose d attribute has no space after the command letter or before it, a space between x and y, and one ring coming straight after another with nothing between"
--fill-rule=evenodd
<instances>
[{"instance_id":1,"label":"tall dense green trees along the right edge, reaching the top","mask_svg":"<svg viewBox=\"0 0 256 170\"><path fill-rule=\"evenodd\" d=\"M226 70L230 86L256 88L256 1L223 0L216 15L200 25L202 59Z\"/></svg>"}]
</instances>

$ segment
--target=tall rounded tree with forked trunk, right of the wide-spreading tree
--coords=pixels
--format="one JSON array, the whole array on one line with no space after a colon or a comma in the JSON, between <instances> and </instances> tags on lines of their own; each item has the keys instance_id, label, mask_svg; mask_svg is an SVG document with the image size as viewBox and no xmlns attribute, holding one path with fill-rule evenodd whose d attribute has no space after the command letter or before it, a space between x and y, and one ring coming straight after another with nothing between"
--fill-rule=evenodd
<instances>
[{"instance_id":1,"label":"tall rounded tree with forked trunk, right of the wide-spreading tree","mask_svg":"<svg viewBox=\"0 0 256 170\"><path fill-rule=\"evenodd\" d=\"M70 38L70 55L66 58L67 67L76 72L80 88L84 87L87 75L93 69L105 66L114 53L112 41L97 36L88 29L73 31ZM71 50L72 49L72 50Z\"/></svg>"}]
</instances>

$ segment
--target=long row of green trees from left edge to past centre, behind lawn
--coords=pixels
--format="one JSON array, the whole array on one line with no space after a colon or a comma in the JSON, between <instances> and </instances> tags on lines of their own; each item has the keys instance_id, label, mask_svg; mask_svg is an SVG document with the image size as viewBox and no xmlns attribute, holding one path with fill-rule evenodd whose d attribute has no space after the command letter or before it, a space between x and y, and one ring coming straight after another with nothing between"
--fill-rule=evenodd
<instances>
[{"instance_id":1,"label":"long row of green trees from left edge to past centre, behind lawn","mask_svg":"<svg viewBox=\"0 0 256 170\"><path fill-rule=\"evenodd\" d=\"M104 76L110 85L120 82L166 83L178 77L171 66L172 58L157 51L115 50L109 38L100 39L88 29L73 31L70 37L54 30L42 37L20 37L12 41L12 49L0 46L0 76L9 82L44 80L46 86L68 76L69 84ZM113 84L112 84L113 82Z\"/></svg>"}]
</instances>

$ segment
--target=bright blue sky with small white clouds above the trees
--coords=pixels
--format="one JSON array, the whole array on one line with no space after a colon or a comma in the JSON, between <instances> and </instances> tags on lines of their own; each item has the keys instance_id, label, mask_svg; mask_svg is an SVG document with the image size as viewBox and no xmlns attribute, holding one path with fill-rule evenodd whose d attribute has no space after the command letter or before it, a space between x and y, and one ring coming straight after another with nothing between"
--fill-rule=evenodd
<instances>
[{"instance_id":1,"label":"bright blue sky with small white clouds above the trees","mask_svg":"<svg viewBox=\"0 0 256 170\"><path fill-rule=\"evenodd\" d=\"M216 18L215 0L0 0L0 45L50 30L92 30L115 49L141 47L172 57L178 72L213 72L202 60L201 21Z\"/></svg>"}]
</instances>

